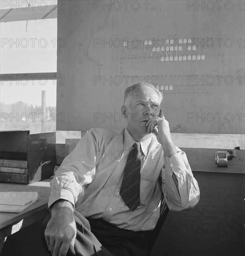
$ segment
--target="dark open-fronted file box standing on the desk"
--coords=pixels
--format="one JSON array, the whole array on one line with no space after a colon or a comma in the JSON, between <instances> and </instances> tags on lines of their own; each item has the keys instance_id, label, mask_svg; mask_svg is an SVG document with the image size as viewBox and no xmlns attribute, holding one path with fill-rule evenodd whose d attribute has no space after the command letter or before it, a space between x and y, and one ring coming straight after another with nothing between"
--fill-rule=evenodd
<instances>
[{"instance_id":1,"label":"dark open-fronted file box standing on the desk","mask_svg":"<svg viewBox=\"0 0 245 256\"><path fill-rule=\"evenodd\" d=\"M0 132L0 182L31 184L53 175L55 132Z\"/></svg>"}]
</instances>

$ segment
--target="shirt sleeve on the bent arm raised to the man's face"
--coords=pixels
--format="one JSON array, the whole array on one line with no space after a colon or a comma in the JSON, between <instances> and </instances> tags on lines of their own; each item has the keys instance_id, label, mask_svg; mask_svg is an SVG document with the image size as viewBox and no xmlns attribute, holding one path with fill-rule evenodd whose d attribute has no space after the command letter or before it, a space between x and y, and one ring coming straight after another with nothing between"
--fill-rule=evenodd
<instances>
[{"instance_id":1,"label":"shirt sleeve on the bent arm raised to the man's face","mask_svg":"<svg viewBox=\"0 0 245 256\"><path fill-rule=\"evenodd\" d=\"M191 209L199 202L198 182L193 177L185 152L178 151L171 157L164 157L165 168L162 169L162 190L172 211ZM174 182L173 174L178 184Z\"/></svg>"}]
</instances>

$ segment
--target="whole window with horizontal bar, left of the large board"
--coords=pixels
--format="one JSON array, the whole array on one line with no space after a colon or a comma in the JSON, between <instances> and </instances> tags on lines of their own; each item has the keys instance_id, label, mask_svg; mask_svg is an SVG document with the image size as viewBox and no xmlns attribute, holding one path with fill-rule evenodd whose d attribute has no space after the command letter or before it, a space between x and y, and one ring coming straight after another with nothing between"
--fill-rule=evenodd
<instances>
[{"instance_id":1,"label":"whole window with horizontal bar, left of the large board","mask_svg":"<svg viewBox=\"0 0 245 256\"><path fill-rule=\"evenodd\" d=\"M55 131L57 0L1 1L0 30L0 129Z\"/></svg>"}]
</instances>

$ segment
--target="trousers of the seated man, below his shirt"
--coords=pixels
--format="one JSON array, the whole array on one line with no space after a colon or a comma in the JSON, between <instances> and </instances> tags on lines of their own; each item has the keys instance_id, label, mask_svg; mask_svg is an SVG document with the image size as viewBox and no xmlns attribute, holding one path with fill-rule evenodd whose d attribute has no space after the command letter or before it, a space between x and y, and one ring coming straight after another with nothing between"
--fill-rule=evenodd
<instances>
[{"instance_id":1,"label":"trousers of the seated man, below his shirt","mask_svg":"<svg viewBox=\"0 0 245 256\"><path fill-rule=\"evenodd\" d=\"M44 231L50 218L48 215L43 221L41 234L43 246L49 254ZM147 256L147 243L152 231L119 229L102 219L86 219L76 210L74 220L77 226L76 256ZM69 250L67 256L72 255Z\"/></svg>"}]
</instances>

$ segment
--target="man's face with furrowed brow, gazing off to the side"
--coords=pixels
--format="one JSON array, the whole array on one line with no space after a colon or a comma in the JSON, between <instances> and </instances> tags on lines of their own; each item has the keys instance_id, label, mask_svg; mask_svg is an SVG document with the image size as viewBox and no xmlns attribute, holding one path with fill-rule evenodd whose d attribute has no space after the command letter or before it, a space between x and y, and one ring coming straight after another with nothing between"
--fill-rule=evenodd
<instances>
[{"instance_id":1,"label":"man's face with furrowed brow, gazing off to the side","mask_svg":"<svg viewBox=\"0 0 245 256\"><path fill-rule=\"evenodd\" d=\"M149 86L142 86L135 89L131 94L130 105L126 108L127 129L132 135L134 133L146 135L146 122L159 116L159 96Z\"/></svg>"}]
</instances>

